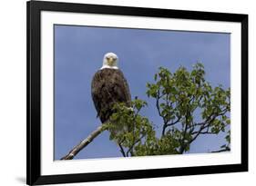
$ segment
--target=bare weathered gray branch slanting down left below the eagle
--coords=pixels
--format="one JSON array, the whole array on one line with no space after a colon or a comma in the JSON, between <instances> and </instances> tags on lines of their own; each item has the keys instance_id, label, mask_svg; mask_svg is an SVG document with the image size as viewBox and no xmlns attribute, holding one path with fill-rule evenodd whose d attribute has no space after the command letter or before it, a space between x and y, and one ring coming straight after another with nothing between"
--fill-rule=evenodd
<instances>
[{"instance_id":1,"label":"bare weathered gray branch slanting down left below the eagle","mask_svg":"<svg viewBox=\"0 0 256 186\"><path fill-rule=\"evenodd\" d=\"M84 149L101 132L104 132L106 130L106 124L107 124L107 122L98 126L97 129L94 132L91 132L85 140L79 142L70 152L67 153L66 156L64 156L60 160L72 160L77 155L78 152L80 152L82 149Z\"/></svg>"}]
</instances>

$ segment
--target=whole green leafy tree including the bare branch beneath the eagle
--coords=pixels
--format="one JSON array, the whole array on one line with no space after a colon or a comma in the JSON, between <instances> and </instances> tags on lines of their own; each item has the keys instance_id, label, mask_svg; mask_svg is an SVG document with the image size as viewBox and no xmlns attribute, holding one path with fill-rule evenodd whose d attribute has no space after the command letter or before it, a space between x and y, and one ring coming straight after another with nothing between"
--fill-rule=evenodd
<instances>
[{"instance_id":1,"label":"whole green leafy tree including the bare branch beneath the eagle","mask_svg":"<svg viewBox=\"0 0 256 186\"><path fill-rule=\"evenodd\" d=\"M202 64L195 64L191 72L179 67L170 73L160 67L147 88L147 95L155 100L156 112L162 119L160 136L155 125L139 114L148 103L138 98L131 102L131 108L116 103L115 113L94 133L108 130L109 139L117 142L124 157L182 154L189 151L190 144L200 135L220 132L227 133L227 143L212 152L230 151L230 89L224 90L221 85L213 88L205 80ZM85 141L88 144L92 140ZM77 146L79 151L85 147Z\"/></svg>"}]
</instances>

